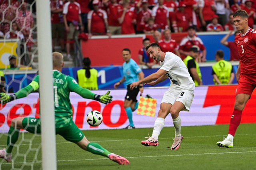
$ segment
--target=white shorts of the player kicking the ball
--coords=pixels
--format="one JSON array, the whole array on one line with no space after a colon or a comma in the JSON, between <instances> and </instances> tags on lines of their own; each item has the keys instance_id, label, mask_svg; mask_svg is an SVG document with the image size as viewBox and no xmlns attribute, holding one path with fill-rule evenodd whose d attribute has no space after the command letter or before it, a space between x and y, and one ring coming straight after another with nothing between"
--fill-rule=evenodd
<instances>
[{"instance_id":1,"label":"white shorts of the player kicking the ball","mask_svg":"<svg viewBox=\"0 0 256 170\"><path fill-rule=\"evenodd\" d=\"M171 105L173 105L174 102L180 101L185 106L185 109L183 109L183 111L189 111L193 98L194 91L184 90L172 86L164 93L161 103L170 103Z\"/></svg>"}]
</instances>

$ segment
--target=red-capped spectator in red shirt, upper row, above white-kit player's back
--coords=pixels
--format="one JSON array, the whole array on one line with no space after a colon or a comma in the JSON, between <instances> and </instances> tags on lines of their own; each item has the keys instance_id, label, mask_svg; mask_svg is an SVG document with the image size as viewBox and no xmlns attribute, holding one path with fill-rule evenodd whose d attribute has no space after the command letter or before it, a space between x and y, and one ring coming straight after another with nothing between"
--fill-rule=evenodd
<instances>
[{"instance_id":1,"label":"red-capped spectator in red shirt, upper row, above white-kit player's back","mask_svg":"<svg viewBox=\"0 0 256 170\"><path fill-rule=\"evenodd\" d=\"M184 11L186 5L183 2L179 3L179 8L172 16L172 27L174 32L187 32L188 26L191 26L191 20L188 13Z\"/></svg>"}]
</instances>

